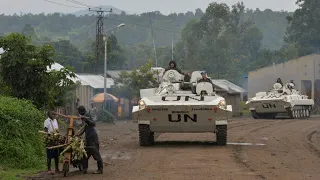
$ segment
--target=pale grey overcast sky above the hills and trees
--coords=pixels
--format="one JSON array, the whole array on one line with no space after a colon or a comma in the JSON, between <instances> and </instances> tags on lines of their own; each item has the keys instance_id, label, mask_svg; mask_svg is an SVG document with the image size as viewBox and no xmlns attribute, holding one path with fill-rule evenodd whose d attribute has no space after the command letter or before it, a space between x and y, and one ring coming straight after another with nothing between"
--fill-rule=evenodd
<instances>
[{"instance_id":1,"label":"pale grey overcast sky above the hills and trees","mask_svg":"<svg viewBox=\"0 0 320 180\"><path fill-rule=\"evenodd\" d=\"M60 4L83 7L72 3L74 0L48 0ZM141 13L158 10L162 14L171 12L187 12L194 11L196 8L206 9L212 0L76 0L78 2L90 5L112 5L118 9L125 10L129 13ZM215 2L224 2L228 5L237 3L239 0L216 0ZM266 8L276 11L294 11L296 8L296 0L243 0L245 6L250 9ZM53 12L75 12L82 10L81 8L66 7L57 5L45 0L0 0L0 14L17 13L53 13Z\"/></svg>"}]
</instances>

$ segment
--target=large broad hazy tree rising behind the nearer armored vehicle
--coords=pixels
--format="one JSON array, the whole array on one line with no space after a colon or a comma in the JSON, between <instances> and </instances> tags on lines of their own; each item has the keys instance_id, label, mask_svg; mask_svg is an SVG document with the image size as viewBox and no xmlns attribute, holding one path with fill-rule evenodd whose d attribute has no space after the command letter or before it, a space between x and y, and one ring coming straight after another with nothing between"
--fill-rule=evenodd
<instances>
[{"instance_id":1,"label":"large broad hazy tree rising behind the nearer armored vehicle","mask_svg":"<svg viewBox=\"0 0 320 180\"><path fill-rule=\"evenodd\" d=\"M236 81L258 56L263 39L254 23L243 19L244 9L243 3L232 8L211 3L200 21L189 21L176 50L182 68Z\"/></svg>"}]
</instances>

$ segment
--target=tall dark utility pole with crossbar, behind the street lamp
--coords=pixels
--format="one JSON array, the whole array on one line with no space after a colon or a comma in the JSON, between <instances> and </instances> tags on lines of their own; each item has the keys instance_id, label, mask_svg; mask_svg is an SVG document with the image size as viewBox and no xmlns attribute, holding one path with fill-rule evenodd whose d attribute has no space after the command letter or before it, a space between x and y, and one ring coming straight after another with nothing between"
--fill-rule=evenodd
<instances>
[{"instance_id":1,"label":"tall dark utility pole with crossbar, behind the street lamp","mask_svg":"<svg viewBox=\"0 0 320 180\"><path fill-rule=\"evenodd\" d=\"M103 52L102 52L102 47L104 45L103 43L103 19L104 19L104 13L105 12L112 12L112 8L110 11L104 11L101 8L99 10L93 10L89 8L89 11L95 11L98 14L97 17L97 24L96 24L96 63L101 60L103 60ZM97 72L97 64L95 64L94 72Z\"/></svg>"}]
</instances>

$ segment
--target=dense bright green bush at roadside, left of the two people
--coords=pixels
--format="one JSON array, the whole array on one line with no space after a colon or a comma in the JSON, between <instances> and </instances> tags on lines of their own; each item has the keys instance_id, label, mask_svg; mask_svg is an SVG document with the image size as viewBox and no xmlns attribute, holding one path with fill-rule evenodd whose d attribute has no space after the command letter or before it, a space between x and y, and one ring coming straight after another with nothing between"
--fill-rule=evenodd
<instances>
[{"instance_id":1,"label":"dense bright green bush at roadside, left of the two people","mask_svg":"<svg viewBox=\"0 0 320 180\"><path fill-rule=\"evenodd\" d=\"M44 145L38 130L44 114L26 100L0 96L0 163L11 168L44 165Z\"/></svg>"}]
</instances>

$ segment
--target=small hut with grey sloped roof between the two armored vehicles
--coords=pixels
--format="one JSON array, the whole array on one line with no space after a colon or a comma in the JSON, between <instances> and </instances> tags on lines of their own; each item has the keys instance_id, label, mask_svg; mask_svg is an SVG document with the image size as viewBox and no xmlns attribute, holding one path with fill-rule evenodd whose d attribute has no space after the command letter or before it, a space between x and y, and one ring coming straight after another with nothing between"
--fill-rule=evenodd
<instances>
[{"instance_id":1,"label":"small hut with grey sloped roof between the two armored vehicles","mask_svg":"<svg viewBox=\"0 0 320 180\"><path fill-rule=\"evenodd\" d=\"M233 116L240 116L240 102L246 90L225 79L213 79L216 93L226 99L227 104L232 105Z\"/></svg>"}]
</instances>

